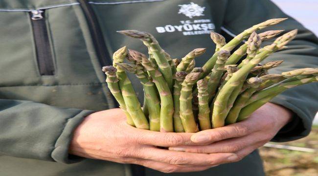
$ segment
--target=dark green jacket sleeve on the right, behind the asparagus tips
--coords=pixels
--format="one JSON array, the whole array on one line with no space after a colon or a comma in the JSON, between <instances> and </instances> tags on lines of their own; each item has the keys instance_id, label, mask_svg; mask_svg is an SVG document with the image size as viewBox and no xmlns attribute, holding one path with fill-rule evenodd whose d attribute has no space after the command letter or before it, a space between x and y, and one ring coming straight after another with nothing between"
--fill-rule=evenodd
<instances>
[{"instance_id":1,"label":"dark green jacket sleeve on the right, behind the asparagus tips","mask_svg":"<svg viewBox=\"0 0 318 176\"><path fill-rule=\"evenodd\" d=\"M284 14L270 0L228 0L223 29L227 33L236 35L254 24L273 18L286 17L289 19L259 31L285 29L285 32L288 32L298 29L298 35L287 45L287 49L277 51L265 60L265 62L284 60L281 66L271 69L270 73L318 67L317 37L299 22ZM273 40L264 42L262 45L271 42ZM275 104L292 110L295 114L292 122L278 132L273 141L290 141L309 134L313 118L318 110L317 90L318 83L311 83L286 90L271 100Z\"/></svg>"}]
</instances>

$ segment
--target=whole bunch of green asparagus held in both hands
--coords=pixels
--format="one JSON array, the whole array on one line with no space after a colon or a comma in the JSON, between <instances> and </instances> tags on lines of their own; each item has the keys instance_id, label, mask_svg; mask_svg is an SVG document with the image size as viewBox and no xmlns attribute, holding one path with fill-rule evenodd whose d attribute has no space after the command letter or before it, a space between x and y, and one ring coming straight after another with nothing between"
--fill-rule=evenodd
<instances>
[{"instance_id":1,"label":"whole bunch of green asparagus held in both hands","mask_svg":"<svg viewBox=\"0 0 318 176\"><path fill-rule=\"evenodd\" d=\"M150 33L118 31L140 39L148 47L149 55L127 50L126 46L117 50L113 66L103 67L108 88L127 116L127 123L139 129L198 132L242 121L286 89L318 81L317 68L268 74L269 69L283 61L260 65L273 52L286 48L297 30L285 33L264 47L260 47L262 41L273 39L282 30L260 34L256 31L284 20L256 24L228 43L222 35L211 32L216 49L203 67L195 67L194 59L202 55L205 48L194 49L181 60L171 59ZM231 54L245 39L247 42ZM124 63L125 59L130 64ZM136 74L143 86L143 107L126 72Z\"/></svg>"}]
</instances>

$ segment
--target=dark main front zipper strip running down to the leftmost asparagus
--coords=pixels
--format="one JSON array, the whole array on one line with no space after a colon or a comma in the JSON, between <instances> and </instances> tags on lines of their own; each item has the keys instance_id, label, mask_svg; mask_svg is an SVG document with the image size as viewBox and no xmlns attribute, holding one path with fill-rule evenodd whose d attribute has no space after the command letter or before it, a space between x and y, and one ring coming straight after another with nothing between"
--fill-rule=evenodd
<instances>
[{"instance_id":1,"label":"dark main front zipper strip running down to the leftmost asparagus","mask_svg":"<svg viewBox=\"0 0 318 176\"><path fill-rule=\"evenodd\" d=\"M96 55L101 66L111 66L112 62L107 59L110 54L107 51L106 44L103 40L103 35L99 27L97 18L87 0L78 0L80 6L83 9L83 12L86 16L86 19L89 23L89 28L91 31L91 37L93 39L93 44L96 48Z\"/></svg>"}]
</instances>

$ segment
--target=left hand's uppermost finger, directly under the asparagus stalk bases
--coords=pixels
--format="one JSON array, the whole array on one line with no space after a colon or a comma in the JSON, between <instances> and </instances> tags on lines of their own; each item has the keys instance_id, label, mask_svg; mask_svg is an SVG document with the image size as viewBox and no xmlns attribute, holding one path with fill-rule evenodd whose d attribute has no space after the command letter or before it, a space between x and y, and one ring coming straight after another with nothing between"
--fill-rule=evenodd
<instances>
[{"instance_id":1,"label":"left hand's uppermost finger, directly under the asparagus stalk bases","mask_svg":"<svg viewBox=\"0 0 318 176\"><path fill-rule=\"evenodd\" d=\"M136 129L135 137L139 144L170 147L193 144L190 140L192 134L185 132L152 132Z\"/></svg>"}]
</instances>

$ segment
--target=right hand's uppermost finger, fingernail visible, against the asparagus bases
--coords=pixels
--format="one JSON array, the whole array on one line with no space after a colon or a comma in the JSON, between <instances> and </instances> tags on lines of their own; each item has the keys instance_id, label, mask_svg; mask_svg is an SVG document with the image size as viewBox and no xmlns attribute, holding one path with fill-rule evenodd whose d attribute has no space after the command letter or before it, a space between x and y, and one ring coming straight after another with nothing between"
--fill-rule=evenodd
<instances>
[{"instance_id":1,"label":"right hand's uppermost finger, fingernail visible, against the asparagus bases","mask_svg":"<svg viewBox=\"0 0 318 176\"><path fill-rule=\"evenodd\" d=\"M211 130L197 132L191 136L191 141L198 144L213 143L233 137L242 137L258 129L249 120Z\"/></svg>"}]
</instances>

